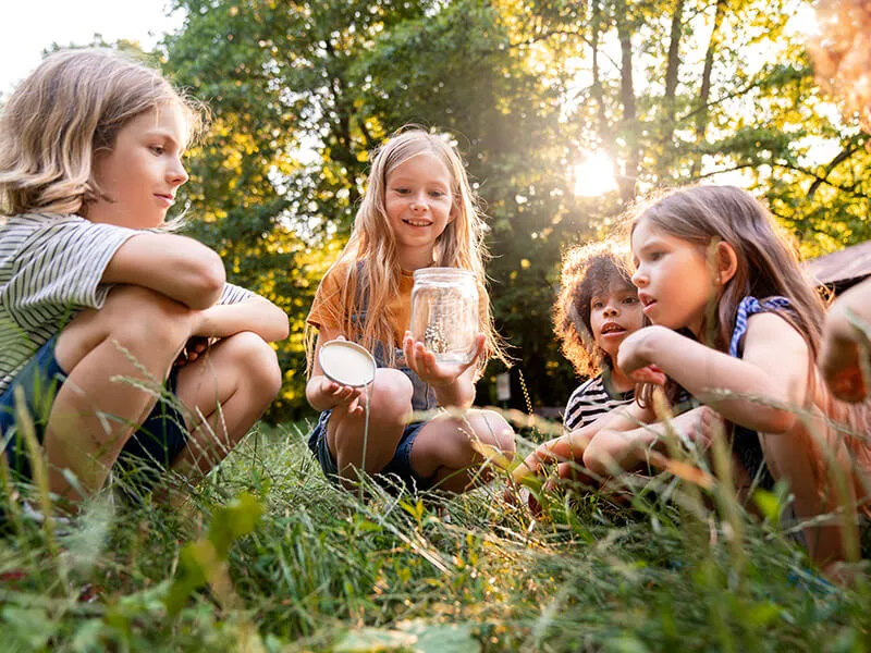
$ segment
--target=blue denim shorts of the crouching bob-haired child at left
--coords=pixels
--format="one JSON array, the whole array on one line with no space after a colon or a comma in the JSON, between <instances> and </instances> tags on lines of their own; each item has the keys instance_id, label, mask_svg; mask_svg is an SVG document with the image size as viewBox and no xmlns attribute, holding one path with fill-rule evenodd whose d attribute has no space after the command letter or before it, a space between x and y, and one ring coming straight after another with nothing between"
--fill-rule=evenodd
<instances>
[{"instance_id":1,"label":"blue denim shorts of the crouching bob-haired child at left","mask_svg":"<svg viewBox=\"0 0 871 653\"><path fill-rule=\"evenodd\" d=\"M13 477L20 480L32 478L30 461L24 439L15 429L15 387L22 387L26 408L33 418L37 440L45 440L46 426L54 397L66 380L54 357L56 338L52 337L27 361L10 386L0 396L0 433L3 449ZM177 368L173 368L165 390L175 397ZM124 444L113 467L115 476L124 485L137 490L150 490L159 480L160 471L169 469L187 445L187 428L177 401L161 398L143 424Z\"/></svg>"}]
</instances>

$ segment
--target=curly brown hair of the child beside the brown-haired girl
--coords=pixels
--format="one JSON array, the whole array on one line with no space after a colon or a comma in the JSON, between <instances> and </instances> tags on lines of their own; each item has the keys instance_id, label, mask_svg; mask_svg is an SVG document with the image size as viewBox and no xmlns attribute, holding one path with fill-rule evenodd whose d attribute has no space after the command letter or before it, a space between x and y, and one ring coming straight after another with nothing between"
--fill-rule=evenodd
<instances>
[{"instance_id":1,"label":"curly brown hair of the child beside the brown-haired girl","mask_svg":"<svg viewBox=\"0 0 871 653\"><path fill-rule=\"evenodd\" d=\"M560 294L553 305L553 331L563 355L580 377L614 367L611 357L593 340L590 300L614 282L635 289L627 258L609 242L578 245L563 254Z\"/></svg>"}]
</instances>

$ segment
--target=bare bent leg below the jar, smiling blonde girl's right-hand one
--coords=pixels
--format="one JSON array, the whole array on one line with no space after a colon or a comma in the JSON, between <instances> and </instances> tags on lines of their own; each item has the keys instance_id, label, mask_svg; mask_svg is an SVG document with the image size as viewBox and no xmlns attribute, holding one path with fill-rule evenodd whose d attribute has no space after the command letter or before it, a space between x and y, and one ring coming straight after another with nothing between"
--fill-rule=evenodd
<instances>
[{"instance_id":1,"label":"bare bent leg below the jar, smiling blonde girl's right-hand one","mask_svg":"<svg viewBox=\"0 0 871 653\"><path fill-rule=\"evenodd\" d=\"M430 420L412 446L412 467L424 478L449 492L463 492L492 473L478 467L483 459L471 448L479 441L513 454L514 431L498 412L469 410L465 417L439 416Z\"/></svg>"}]
</instances>

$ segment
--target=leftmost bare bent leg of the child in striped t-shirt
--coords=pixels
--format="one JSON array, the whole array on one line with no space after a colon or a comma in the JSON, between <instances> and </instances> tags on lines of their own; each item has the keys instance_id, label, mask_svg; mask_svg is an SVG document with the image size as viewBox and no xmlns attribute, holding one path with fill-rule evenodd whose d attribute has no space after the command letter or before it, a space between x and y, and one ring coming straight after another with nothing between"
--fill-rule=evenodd
<instances>
[{"instance_id":1,"label":"leftmost bare bent leg of the child in striped t-shirt","mask_svg":"<svg viewBox=\"0 0 871 653\"><path fill-rule=\"evenodd\" d=\"M81 312L58 336L54 356L69 374L51 408L45 448L49 488L77 500L61 470L86 493L99 490L134 426L155 396L122 377L155 389L186 342L192 311L139 286L118 286L100 310ZM122 350L123 349L123 350Z\"/></svg>"}]
</instances>

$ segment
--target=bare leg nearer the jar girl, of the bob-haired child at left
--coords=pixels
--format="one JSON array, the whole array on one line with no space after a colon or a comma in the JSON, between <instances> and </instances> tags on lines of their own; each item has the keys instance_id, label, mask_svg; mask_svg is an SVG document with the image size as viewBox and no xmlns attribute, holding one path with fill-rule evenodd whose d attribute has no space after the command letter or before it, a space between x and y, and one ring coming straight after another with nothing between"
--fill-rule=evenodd
<instances>
[{"instance_id":1,"label":"bare leg nearer the jar girl, of the bob-haired child at left","mask_svg":"<svg viewBox=\"0 0 871 653\"><path fill-rule=\"evenodd\" d=\"M191 411L191 440L173 469L194 482L207 475L248 432L280 389L274 350L247 331L221 340L179 370L176 393Z\"/></svg>"}]
</instances>

